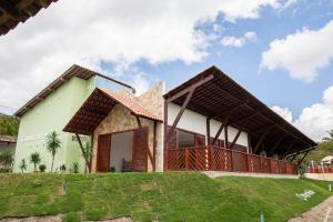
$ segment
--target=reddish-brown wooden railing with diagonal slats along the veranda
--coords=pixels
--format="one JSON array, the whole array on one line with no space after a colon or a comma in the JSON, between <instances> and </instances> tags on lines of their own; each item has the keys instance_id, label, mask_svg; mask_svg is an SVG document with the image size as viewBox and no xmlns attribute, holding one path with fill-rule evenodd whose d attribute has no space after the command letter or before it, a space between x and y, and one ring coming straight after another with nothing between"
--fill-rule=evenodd
<instances>
[{"instance_id":1,"label":"reddish-brown wooden railing with diagonal slats along the veranda","mask_svg":"<svg viewBox=\"0 0 333 222\"><path fill-rule=\"evenodd\" d=\"M218 147L167 150L168 170L297 174L295 164Z\"/></svg>"}]
</instances>

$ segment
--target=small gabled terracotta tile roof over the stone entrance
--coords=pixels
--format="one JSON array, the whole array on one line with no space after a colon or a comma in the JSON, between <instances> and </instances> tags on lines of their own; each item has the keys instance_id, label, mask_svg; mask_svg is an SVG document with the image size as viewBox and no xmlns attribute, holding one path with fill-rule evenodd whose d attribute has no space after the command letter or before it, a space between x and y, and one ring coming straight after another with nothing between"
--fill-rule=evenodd
<instances>
[{"instance_id":1,"label":"small gabled terracotta tile roof over the stone entrance","mask_svg":"<svg viewBox=\"0 0 333 222\"><path fill-rule=\"evenodd\" d=\"M117 104L125 107L137 117L162 122L162 120L151 111L141 107L135 99L123 93L114 93L110 90L97 88L74 113L63 131L91 135L94 129L108 117L109 112Z\"/></svg>"}]
</instances>

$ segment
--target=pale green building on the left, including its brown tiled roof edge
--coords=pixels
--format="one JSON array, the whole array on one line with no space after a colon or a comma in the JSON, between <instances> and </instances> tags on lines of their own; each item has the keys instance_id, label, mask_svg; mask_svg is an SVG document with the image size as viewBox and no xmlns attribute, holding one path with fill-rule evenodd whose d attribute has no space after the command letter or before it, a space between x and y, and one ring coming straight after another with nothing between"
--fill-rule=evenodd
<instances>
[{"instance_id":1,"label":"pale green building on the left, including its brown tiled roof edge","mask_svg":"<svg viewBox=\"0 0 333 222\"><path fill-rule=\"evenodd\" d=\"M44 148L46 135L51 131L60 134L61 148L54 159L54 169L60 165L71 169L74 162L79 163L83 172L84 162L72 133L62 132L65 123L77 112L91 92L98 88L133 92L133 88L98 72L93 72L80 65L72 65L46 89L28 101L16 112L20 118L18 143L14 155L13 171L20 172L19 163L22 159L29 163L30 154L38 152L41 155L41 164L51 168L51 154ZM82 137L82 141L90 140ZM28 172L33 171L33 165L28 164Z\"/></svg>"}]
</instances>

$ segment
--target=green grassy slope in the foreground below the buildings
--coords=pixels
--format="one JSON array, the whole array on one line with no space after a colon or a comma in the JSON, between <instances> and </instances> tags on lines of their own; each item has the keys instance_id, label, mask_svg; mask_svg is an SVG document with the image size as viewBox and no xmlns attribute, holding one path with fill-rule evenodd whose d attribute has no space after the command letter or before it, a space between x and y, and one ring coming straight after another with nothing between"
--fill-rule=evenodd
<instances>
[{"instance_id":1,"label":"green grassy slope in the foreground below the buildings","mask_svg":"<svg viewBox=\"0 0 333 222\"><path fill-rule=\"evenodd\" d=\"M65 182L64 182L65 181ZM63 184L67 184L65 194ZM325 182L220 178L200 173L0 175L0 218L67 214L77 221L133 215L135 221L285 221L330 195ZM307 202L296 192L311 189Z\"/></svg>"}]
</instances>

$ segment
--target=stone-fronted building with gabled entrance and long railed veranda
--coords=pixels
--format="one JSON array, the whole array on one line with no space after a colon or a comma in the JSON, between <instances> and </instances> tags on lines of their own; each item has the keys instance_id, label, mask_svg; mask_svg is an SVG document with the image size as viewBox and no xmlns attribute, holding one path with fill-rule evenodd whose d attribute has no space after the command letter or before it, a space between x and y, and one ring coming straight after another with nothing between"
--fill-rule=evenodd
<instances>
[{"instance_id":1,"label":"stone-fronted building with gabled entrance and long railed veranda","mask_svg":"<svg viewBox=\"0 0 333 222\"><path fill-rule=\"evenodd\" d=\"M316 145L215 67L168 93L163 82L140 97L97 87L63 131L91 137L92 172L295 174L287 160Z\"/></svg>"}]
</instances>

